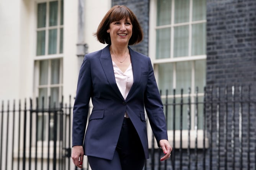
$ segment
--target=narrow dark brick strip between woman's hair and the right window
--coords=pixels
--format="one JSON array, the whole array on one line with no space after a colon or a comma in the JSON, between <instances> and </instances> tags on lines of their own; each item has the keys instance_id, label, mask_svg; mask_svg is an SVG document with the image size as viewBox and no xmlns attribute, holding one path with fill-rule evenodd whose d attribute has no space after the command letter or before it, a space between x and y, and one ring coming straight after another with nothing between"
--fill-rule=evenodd
<instances>
[{"instance_id":1,"label":"narrow dark brick strip between woman's hair and the right window","mask_svg":"<svg viewBox=\"0 0 256 170\"><path fill-rule=\"evenodd\" d=\"M137 16L143 29L144 38L142 42L131 47L137 52L148 55L149 0L112 0L112 6L114 5L126 5Z\"/></svg>"}]
</instances>

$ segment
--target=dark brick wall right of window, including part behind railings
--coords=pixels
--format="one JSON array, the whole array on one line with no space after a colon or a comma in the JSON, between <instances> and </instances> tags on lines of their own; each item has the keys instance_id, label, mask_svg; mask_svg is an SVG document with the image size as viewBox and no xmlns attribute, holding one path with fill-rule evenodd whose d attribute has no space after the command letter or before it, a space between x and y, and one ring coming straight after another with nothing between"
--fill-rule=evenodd
<instances>
[{"instance_id":1,"label":"dark brick wall right of window, including part behind railings","mask_svg":"<svg viewBox=\"0 0 256 170\"><path fill-rule=\"evenodd\" d=\"M238 88L240 85L243 86L241 93L243 99L248 99L248 85L251 85L250 98L256 99L255 9L255 0L207 0L207 90L209 91L213 86L213 93L216 97L215 87L220 87L220 100L222 101L225 100L223 87L226 85L230 101L232 101L231 86L233 85L236 87L236 101L240 100ZM243 169L255 168L255 107L255 103L248 105L246 102L234 104L231 102L227 105L221 103L207 107L208 138L212 140L210 149L212 164L215 167L218 164L220 169L225 169L225 163L227 163L227 169L240 165ZM218 112L219 115L217 115ZM226 113L227 131L224 133ZM218 117L220 121L217 123ZM248 119L251 121L250 124L248 124ZM241 126L239 126L239 121L242 122ZM219 134L217 127L220 128ZM212 133L209 131L210 128ZM243 136L241 142L239 140L240 130ZM248 133L247 130L250 132ZM234 133L233 137L232 133ZM224 145L225 136L227 136L227 147ZM218 137L220 138L219 145ZM246 143L248 139L251 140L251 144ZM240 146L242 157L239 155ZM227 151L227 157L224 151ZM247 157L248 153L251 154L250 157ZM248 164L249 161L251 161L250 164Z\"/></svg>"}]
</instances>

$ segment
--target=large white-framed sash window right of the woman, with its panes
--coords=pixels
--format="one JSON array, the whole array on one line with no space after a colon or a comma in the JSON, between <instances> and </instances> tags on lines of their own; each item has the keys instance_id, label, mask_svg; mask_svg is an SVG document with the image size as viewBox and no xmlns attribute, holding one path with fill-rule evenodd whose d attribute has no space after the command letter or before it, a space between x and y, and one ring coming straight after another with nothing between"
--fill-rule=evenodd
<instances>
[{"instance_id":1,"label":"large white-framed sash window right of the woman, with its panes","mask_svg":"<svg viewBox=\"0 0 256 170\"><path fill-rule=\"evenodd\" d=\"M150 57L152 58L158 87L165 103L188 103L191 88L191 103L196 102L196 87L199 102L203 100L206 79L206 0L151 0L150 10ZM188 130L187 107L183 107L182 129ZM176 107L175 130L181 126L180 109ZM191 129L195 127L195 106L191 107ZM173 130L173 108L168 107L168 130ZM198 128L202 129L202 105L199 105Z\"/></svg>"}]
</instances>

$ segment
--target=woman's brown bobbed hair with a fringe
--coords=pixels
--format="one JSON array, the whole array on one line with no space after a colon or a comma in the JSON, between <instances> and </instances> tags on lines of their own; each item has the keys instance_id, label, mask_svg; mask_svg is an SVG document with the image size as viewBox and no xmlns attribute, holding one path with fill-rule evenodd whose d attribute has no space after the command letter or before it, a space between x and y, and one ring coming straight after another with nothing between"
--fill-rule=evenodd
<instances>
[{"instance_id":1,"label":"woman's brown bobbed hair with a fringe","mask_svg":"<svg viewBox=\"0 0 256 170\"><path fill-rule=\"evenodd\" d=\"M143 31L140 27L139 21L135 14L127 7L123 5L113 6L99 23L97 32L94 34L98 41L103 44L111 45L110 34L107 32L109 24L114 21L119 21L123 18L130 18L132 23L132 36L130 37L128 45L138 44L143 39Z\"/></svg>"}]
</instances>

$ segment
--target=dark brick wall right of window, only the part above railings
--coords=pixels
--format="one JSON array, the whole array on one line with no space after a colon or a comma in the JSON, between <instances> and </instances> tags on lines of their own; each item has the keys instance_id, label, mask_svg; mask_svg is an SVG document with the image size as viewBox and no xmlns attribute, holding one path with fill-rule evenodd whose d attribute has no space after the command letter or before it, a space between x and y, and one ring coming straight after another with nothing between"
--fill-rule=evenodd
<instances>
[{"instance_id":1,"label":"dark brick wall right of window, only the part above railings","mask_svg":"<svg viewBox=\"0 0 256 170\"><path fill-rule=\"evenodd\" d=\"M255 9L255 0L207 0L207 86L256 84Z\"/></svg>"}]
</instances>

